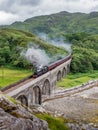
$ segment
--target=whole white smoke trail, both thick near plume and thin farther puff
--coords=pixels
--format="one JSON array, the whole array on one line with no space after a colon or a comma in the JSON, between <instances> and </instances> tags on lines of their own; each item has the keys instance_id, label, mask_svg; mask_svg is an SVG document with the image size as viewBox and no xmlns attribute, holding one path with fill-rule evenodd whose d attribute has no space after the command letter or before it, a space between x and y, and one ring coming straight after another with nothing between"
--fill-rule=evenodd
<instances>
[{"instance_id":1,"label":"whole white smoke trail, both thick near plume and thin farther puff","mask_svg":"<svg viewBox=\"0 0 98 130\"><path fill-rule=\"evenodd\" d=\"M45 33L39 33L38 35L41 39L47 41L49 44L52 44L56 47L65 48L68 50L68 52L71 52L71 43L64 42L63 37L50 39ZM45 50L41 49L39 46L33 44L32 42L28 44L27 48L27 50L22 51L21 55L34 66L45 66L63 57L62 55L49 57Z\"/></svg>"}]
</instances>

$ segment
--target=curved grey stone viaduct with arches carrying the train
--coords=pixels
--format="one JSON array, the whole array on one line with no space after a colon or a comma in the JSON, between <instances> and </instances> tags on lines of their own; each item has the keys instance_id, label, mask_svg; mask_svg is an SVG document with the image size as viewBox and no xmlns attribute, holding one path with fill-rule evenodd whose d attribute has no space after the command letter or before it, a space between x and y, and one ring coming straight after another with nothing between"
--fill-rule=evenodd
<instances>
[{"instance_id":1,"label":"curved grey stone viaduct with arches carrying the train","mask_svg":"<svg viewBox=\"0 0 98 130\"><path fill-rule=\"evenodd\" d=\"M65 77L69 73L70 62L71 59L6 94L29 107L41 104L55 90L56 82L61 81L62 77Z\"/></svg>"}]
</instances>

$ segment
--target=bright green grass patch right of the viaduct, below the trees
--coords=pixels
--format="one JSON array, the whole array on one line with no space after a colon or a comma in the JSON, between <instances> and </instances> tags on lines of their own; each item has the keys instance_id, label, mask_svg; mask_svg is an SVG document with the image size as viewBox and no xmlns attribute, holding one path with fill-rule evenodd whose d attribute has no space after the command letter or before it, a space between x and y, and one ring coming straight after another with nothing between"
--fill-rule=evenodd
<instances>
[{"instance_id":1,"label":"bright green grass patch right of the viaduct, below the trees","mask_svg":"<svg viewBox=\"0 0 98 130\"><path fill-rule=\"evenodd\" d=\"M66 78L63 78L62 81L57 84L59 87L71 88L95 79L98 79L98 71L76 74L70 73Z\"/></svg>"}]
</instances>

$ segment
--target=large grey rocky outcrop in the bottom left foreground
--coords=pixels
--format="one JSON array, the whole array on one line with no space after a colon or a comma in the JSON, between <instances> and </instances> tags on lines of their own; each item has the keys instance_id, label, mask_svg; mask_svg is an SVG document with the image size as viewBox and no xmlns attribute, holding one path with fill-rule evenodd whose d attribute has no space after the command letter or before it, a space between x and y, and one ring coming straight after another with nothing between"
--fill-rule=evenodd
<instances>
[{"instance_id":1,"label":"large grey rocky outcrop in the bottom left foreground","mask_svg":"<svg viewBox=\"0 0 98 130\"><path fill-rule=\"evenodd\" d=\"M0 130L48 130L48 124L29 108L0 93Z\"/></svg>"}]
</instances>

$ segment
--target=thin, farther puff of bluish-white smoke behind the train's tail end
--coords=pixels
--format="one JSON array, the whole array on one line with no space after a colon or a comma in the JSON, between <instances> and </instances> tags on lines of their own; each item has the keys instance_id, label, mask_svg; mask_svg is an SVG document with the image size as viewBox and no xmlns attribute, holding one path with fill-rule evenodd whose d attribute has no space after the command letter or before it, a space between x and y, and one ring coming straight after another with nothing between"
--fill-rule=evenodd
<instances>
[{"instance_id":1,"label":"thin, farther puff of bluish-white smoke behind the train's tail end","mask_svg":"<svg viewBox=\"0 0 98 130\"><path fill-rule=\"evenodd\" d=\"M54 46L56 46L56 47L62 47L62 48L64 48L64 49L67 50L69 53L71 53L71 51L72 51L72 50L71 50L71 45L72 45L72 44L71 44L70 42L65 42L66 39L64 39L63 36L60 36L60 37L55 38L55 39L50 39L50 38L48 37L48 35L45 34L45 33L38 33L38 36L39 36L41 39L47 41L49 44L52 44L52 45L54 45Z\"/></svg>"}]
</instances>

